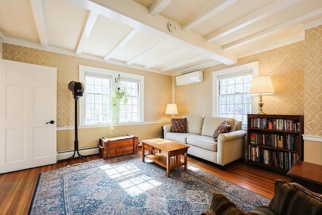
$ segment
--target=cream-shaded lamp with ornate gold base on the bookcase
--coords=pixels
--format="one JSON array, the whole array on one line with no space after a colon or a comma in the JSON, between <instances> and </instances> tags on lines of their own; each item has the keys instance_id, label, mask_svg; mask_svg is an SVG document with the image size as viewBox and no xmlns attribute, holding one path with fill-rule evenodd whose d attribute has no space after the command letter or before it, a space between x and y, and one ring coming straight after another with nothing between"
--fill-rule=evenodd
<instances>
[{"instance_id":1,"label":"cream-shaded lamp with ornate gold base on the bookcase","mask_svg":"<svg viewBox=\"0 0 322 215\"><path fill-rule=\"evenodd\" d=\"M274 93L275 91L270 76L258 76L252 79L249 95L260 96L260 101L258 102L260 110L257 112L257 114L266 114L262 108L264 105L262 102L262 96L272 95Z\"/></svg>"}]
</instances>

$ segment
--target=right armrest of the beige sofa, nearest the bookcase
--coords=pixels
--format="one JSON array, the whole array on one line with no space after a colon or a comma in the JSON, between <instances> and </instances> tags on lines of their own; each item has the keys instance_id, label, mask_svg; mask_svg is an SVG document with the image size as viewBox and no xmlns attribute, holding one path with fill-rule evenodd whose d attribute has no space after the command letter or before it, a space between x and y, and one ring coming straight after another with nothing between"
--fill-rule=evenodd
<instances>
[{"instance_id":1,"label":"right armrest of the beige sofa, nearest the bookcase","mask_svg":"<svg viewBox=\"0 0 322 215\"><path fill-rule=\"evenodd\" d=\"M224 166L243 158L245 136L245 130L219 134L217 140L217 164Z\"/></svg>"}]
</instances>

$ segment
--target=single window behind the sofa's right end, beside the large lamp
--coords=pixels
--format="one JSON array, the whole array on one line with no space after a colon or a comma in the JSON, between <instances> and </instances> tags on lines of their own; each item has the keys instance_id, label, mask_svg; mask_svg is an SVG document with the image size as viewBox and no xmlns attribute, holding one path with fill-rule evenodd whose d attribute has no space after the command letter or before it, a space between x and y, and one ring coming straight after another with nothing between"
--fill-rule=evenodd
<instances>
[{"instance_id":1,"label":"single window behind the sofa's right end, beside the large lamp","mask_svg":"<svg viewBox=\"0 0 322 215\"><path fill-rule=\"evenodd\" d=\"M213 115L234 118L246 126L247 114L257 108L257 102L248 94L252 77L257 75L258 62L215 71Z\"/></svg>"}]
</instances>

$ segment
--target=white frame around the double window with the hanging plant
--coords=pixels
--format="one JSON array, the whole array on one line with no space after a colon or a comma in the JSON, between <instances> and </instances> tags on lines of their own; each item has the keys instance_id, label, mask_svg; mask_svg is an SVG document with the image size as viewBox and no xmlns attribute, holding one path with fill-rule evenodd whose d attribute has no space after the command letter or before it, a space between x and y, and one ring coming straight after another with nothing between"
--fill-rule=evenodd
<instances>
[{"instance_id":1,"label":"white frame around the double window with the hanging plant","mask_svg":"<svg viewBox=\"0 0 322 215\"><path fill-rule=\"evenodd\" d=\"M113 71L108 69L102 68L95 68L90 66L79 65L79 81L85 84L85 73L92 73L96 74L97 76L102 75L102 78L112 77L112 88L116 86L115 80L117 80L118 76L120 75L121 80L135 80L139 83L139 115L138 115L138 122L143 122L144 119L144 76L129 74L129 73L121 73L119 71ZM126 81L124 80L124 81ZM86 93L86 89L85 89ZM97 126L97 125L104 125L109 126L110 123L107 124L85 124L85 99L79 100L79 125L83 126ZM119 122L119 124L127 124L131 122Z\"/></svg>"}]
</instances>

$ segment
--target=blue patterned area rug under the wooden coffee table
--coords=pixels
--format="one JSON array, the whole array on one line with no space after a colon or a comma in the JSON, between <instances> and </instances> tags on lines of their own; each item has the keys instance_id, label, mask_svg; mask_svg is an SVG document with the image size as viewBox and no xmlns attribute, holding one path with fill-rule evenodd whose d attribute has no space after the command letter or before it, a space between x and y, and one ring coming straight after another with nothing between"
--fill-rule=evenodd
<instances>
[{"instance_id":1,"label":"blue patterned area rug under the wooden coffee table","mask_svg":"<svg viewBox=\"0 0 322 215\"><path fill-rule=\"evenodd\" d=\"M200 214L214 191L245 211L270 201L189 165L168 178L136 154L40 173L29 214Z\"/></svg>"}]
</instances>

